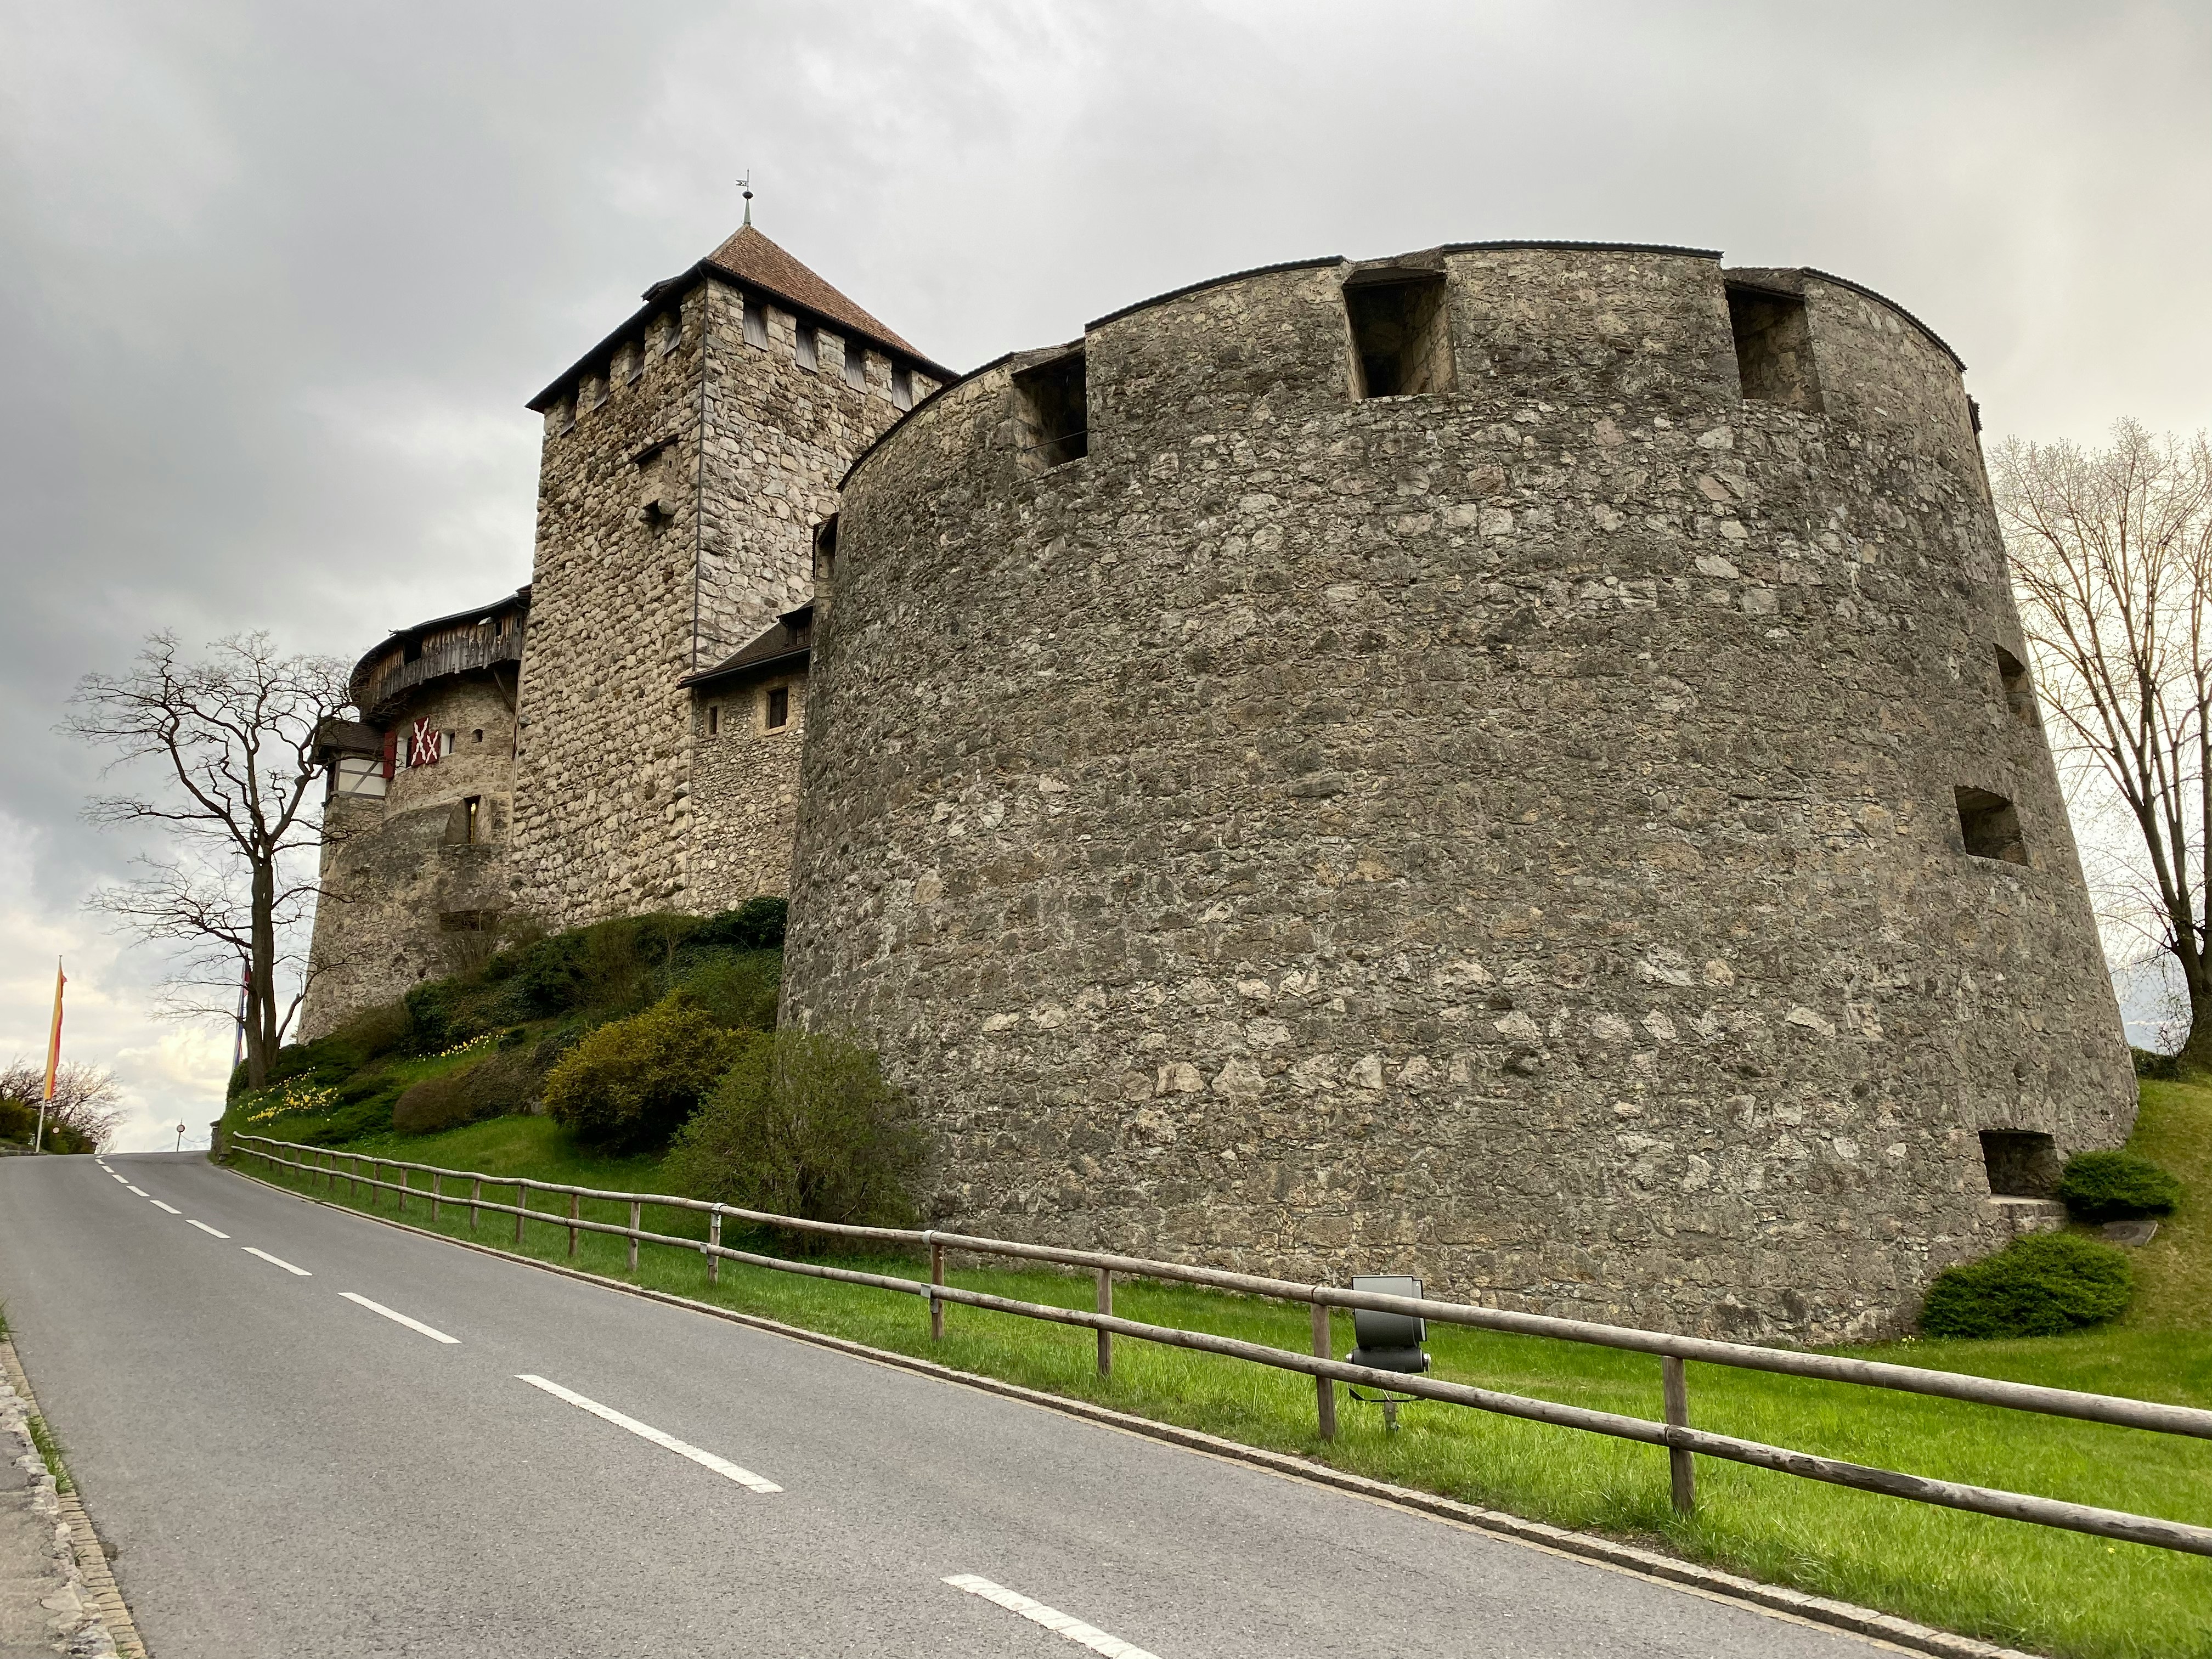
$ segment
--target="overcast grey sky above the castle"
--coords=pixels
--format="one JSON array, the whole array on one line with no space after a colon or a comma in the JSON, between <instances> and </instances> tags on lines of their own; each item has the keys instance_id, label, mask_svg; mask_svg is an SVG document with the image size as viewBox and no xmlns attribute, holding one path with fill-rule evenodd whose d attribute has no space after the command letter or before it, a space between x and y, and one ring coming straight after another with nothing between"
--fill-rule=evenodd
<instances>
[{"instance_id":1,"label":"overcast grey sky above the castle","mask_svg":"<svg viewBox=\"0 0 2212 1659\"><path fill-rule=\"evenodd\" d=\"M1557 237L1820 265L1993 436L2212 418L2203 4L0 0L0 1060L204 1139L82 909L73 681L529 580L538 387L739 219L953 367L1208 274ZM170 1135L173 1139L173 1135ZM168 1144L161 1139L159 1144Z\"/></svg>"}]
</instances>

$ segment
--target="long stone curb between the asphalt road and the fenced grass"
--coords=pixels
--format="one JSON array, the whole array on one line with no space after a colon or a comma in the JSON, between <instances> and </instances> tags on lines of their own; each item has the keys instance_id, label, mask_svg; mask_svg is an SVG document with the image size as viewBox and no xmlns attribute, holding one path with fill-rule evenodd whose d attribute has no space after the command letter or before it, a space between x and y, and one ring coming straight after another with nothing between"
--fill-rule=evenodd
<instances>
[{"instance_id":1,"label":"long stone curb between the asphalt road and the fenced grass","mask_svg":"<svg viewBox=\"0 0 2212 1659\"><path fill-rule=\"evenodd\" d=\"M615 1290L626 1296L641 1296L644 1301L666 1303L670 1307L684 1307L695 1314L706 1314L710 1318L721 1318L732 1325L750 1325L757 1332L768 1332L770 1336L787 1336L799 1343L812 1343L814 1347L827 1347L838 1354L852 1354L854 1358L874 1360L876 1365L891 1365L900 1371L916 1371L920 1376L936 1378L940 1383L956 1383L960 1387L980 1389L984 1394L998 1394L1009 1400L1020 1400L1046 1411L1060 1411L1062 1416L1084 1418L1110 1429L1121 1429L1124 1433L1137 1433L1146 1440L1166 1440L1190 1451L1203 1451L1214 1458L1228 1458L1232 1462L1252 1464L1267 1469L1270 1473L1283 1475L1285 1480L1303 1480L1314 1486L1332 1486L1336 1491L1354 1493L1371 1502L1391 1504L1396 1509L1411 1509L1422 1515L1433 1515L1438 1520L1449 1520L1460 1526L1469 1526L1480 1533L1491 1533L1493 1537L1506 1537L1515 1544L1526 1544L1533 1548L1551 1551L1555 1555L1573 1555L1577 1559L1597 1562L1621 1573L1635 1573L1637 1577L1657 1579L1661 1584L1672 1584L1677 1588L1694 1590L1699 1595L1710 1595L1721 1601L1741 1601L1761 1613L1783 1615L1790 1619L1801 1619L1805 1624L1827 1626L1834 1630L1847 1630L1856 1637L1869 1637L1874 1641L1902 1648L1907 1652L1933 1655L1936 1659L2037 1659L2037 1655L2022 1652L2020 1648L2000 1648L1975 1637L1962 1637L1951 1630L1936 1630L1933 1626L1913 1624L1911 1619L1900 1619L1891 1613L1876 1613L1874 1608L1863 1608L1851 1601L1836 1601L1823 1595L1805 1595L1803 1590L1790 1590L1778 1584L1761 1584L1756 1579L1736 1577L1734 1573L1721 1573L1719 1568L1699 1566L1697 1562L1686 1562L1677 1555L1661 1555L1659 1551L1644 1548L1639 1544L1624 1544L1619 1540L1599 1537L1595 1533L1575 1533L1564 1526L1551 1526L1546 1522L1533 1522L1522 1515L1509 1515L1498 1509L1480 1509L1475 1504L1462 1504L1455 1498L1440 1498L1438 1493L1418 1491L1413 1486L1394 1486L1387 1480L1371 1480L1367 1475L1354 1475L1343 1469L1332 1469L1329 1464L1312 1462L1307 1458L1296 1458L1287 1451L1267 1451L1265 1447L1248 1447L1239 1440L1223 1440L1221 1436L1206 1433L1203 1429L1183 1429L1175 1422L1157 1422L1155 1418L1139 1418L1128 1411L1115 1411L1113 1407L1093 1405L1091 1400L1075 1400L1064 1394L1046 1394L1042 1389L1029 1389L1020 1383L1004 1383L995 1376L980 1376L975 1371L960 1371L951 1365L938 1365L936 1360L916 1358L911 1354L898 1354L894 1349L869 1347L867 1343L854 1343L845 1336L830 1336L827 1332L810 1332L801 1325L785 1325L783 1321L763 1318L761 1314L741 1314L734 1307L717 1307L714 1303L692 1301L690 1296L677 1296L668 1290L653 1290L648 1285L635 1285L626 1279L608 1279L604 1274L584 1272L582 1267L566 1267L557 1261L540 1261L538 1256L522 1256L513 1250L500 1250L498 1245L487 1245L476 1239L456 1239L449 1232L431 1232L429 1228L418 1228L409 1221L396 1217L383 1217L372 1210L356 1210L347 1203L330 1203L327 1199L316 1199L305 1192L294 1192L276 1181L263 1181L246 1170L228 1168L241 1181L252 1181L254 1186L268 1188L270 1192L281 1192L288 1199L299 1199L301 1203L312 1203L321 1210L334 1210L338 1214L358 1217L363 1221L374 1221L383 1228L394 1228L396 1232L411 1232L418 1239L436 1239L438 1243L458 1245L460 1250L473 1250L482 1256L495 1256L498 1261L513 1261L524 1267L542 1267L544 1272L560 1274L564 1279L580 1279L586 1285L599 1285L602 1290ZM557 1217L549 1217L557 1221Z\"/></svg>"}]
</instances>

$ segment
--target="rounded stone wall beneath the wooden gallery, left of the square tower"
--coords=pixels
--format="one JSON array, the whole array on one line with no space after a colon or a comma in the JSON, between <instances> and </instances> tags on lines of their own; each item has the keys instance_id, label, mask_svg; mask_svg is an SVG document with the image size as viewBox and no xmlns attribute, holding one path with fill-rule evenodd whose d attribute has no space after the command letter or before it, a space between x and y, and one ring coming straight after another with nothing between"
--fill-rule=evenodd
<instances>
[{"instance_id":1,"label":"rounded stone wall beneath the wooden gallery, left of the square tower","mask_svg":"<svg viewBox=\"0 0 2212 1659\"><path fill-rule=\"evenodd\" d=\"M465 964L482 927L511 907L515 721L509 670L438 679L392 710L407 730L453 732L436 765L396 768L385 796L341 794L323 807L323 894L314 914L316 975L301 1040L361 1009ZM478 801L469 841L465 803Z\"/></svg>"}]
</instances>

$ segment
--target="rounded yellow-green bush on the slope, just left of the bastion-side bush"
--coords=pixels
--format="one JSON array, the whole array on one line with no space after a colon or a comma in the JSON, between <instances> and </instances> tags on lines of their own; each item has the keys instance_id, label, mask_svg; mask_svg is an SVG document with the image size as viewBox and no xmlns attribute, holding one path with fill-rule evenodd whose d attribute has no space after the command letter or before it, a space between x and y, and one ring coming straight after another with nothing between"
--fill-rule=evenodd
<instances>
[{"instance_id":1,"label":"rounded yellow-green bush on the slope, just left of the bastion-side bush","mask_svg":"<svg viewBox=\"0 0 2212 1659\"><path fill-rule=\"evenodd\" d=\"M546 1075L544 1102L580 1141L664 1146L721 1082L743 1040L681 991L586 1035Z\"/></svg>"}]
</instances>

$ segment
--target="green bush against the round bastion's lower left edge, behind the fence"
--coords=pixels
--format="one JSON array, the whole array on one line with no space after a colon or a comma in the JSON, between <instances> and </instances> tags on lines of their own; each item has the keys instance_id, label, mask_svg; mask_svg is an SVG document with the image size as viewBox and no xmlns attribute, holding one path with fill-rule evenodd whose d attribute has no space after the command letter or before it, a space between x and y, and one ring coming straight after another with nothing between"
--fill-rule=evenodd
<instances>
[{"instance_id":1,"label":"green bush against the round bastion's lower left edge, behind the fence","mask_svg":"<svg viewBox=\"0 0 2212 1659\"><path fill-rule=\"evenodd\" d=\"M876 1055L836 1035L779 1031L743 1040L664 1168L692 1197L896 1228L914 1219L927 1159L929 1137Z\"/></svg>"}]
</instances>

